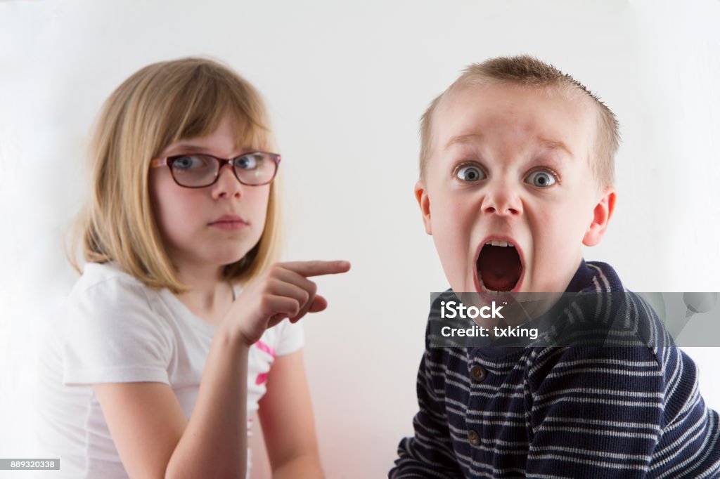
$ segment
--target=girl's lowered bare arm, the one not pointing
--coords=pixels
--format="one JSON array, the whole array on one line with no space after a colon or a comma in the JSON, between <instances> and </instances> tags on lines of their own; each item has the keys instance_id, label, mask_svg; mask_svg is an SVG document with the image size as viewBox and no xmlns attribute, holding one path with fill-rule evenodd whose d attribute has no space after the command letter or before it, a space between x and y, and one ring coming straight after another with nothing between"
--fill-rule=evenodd
<instances>
[{"instance_id":1,"label":"girl's lowered bare arm, the one not pointing","mask_svg":"<svg viewBox=\"0 0 720 479\"><path fill-rule=\"evenodd\" d=\"M302 350L275 358L259 408L273 477L323 478Z\"/></svg>"}]
</instances>

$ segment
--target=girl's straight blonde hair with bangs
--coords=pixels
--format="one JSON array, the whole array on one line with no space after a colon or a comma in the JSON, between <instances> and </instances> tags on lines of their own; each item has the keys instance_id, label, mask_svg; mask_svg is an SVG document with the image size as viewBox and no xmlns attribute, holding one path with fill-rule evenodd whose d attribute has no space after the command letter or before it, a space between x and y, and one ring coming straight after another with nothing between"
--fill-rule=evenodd
<instances>
[{"instance_id":1,"label":"girl's straight blonde hair with bangs","mask_svg":"<svg viewBox=\"0 0 720 479\"><path fill-rule=\"evenodd\" d=\"M238 124L238 145L273 151L260 94L230 68L204 58L153 63L127 78L105 101L91 142L91 188L78 216L76 241L84 260L114 261L150 288L188 291L166 255L148 191L150 160L171 143L200 137L226 117ZM279 197L271 183L258 243L224 275L244 283L276 260ZM79 251L69 255L78 270Z\"/></svg>"}]
</instances>

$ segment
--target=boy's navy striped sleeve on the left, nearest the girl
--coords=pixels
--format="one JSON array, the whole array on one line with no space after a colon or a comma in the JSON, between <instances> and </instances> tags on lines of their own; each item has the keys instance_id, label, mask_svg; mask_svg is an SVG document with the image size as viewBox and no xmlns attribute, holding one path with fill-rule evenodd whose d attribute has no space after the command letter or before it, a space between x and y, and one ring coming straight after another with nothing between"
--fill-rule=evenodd
<instances>
[{"instance_id":1,"label":"boy's navy striped sleeve on the left, nearest the girl","mask_svg":"<svg viewBox=\"0 0 720 479\"><path fill-rule=\"evenodd\" d=\"M398 458L388 473L390 479L463 477L453 450L444 398L440 396L445 380L444 366L438 357L441 351L431 349L426 339L418 370L420 411L413 419L415 436L405 437L397 446Z\"/></svg>"}]
</instances>

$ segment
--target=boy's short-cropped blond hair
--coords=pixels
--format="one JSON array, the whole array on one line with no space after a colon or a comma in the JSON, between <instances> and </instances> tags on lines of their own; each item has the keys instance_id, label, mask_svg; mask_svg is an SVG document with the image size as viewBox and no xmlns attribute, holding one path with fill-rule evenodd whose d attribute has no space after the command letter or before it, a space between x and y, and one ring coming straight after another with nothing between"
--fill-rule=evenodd
<instances>
[{"instance_id":1,"label":"boy's short-cropped blond hair","mask_svg":"<svg viewBox=\"0 0 720 479\"><path fill-rule=\"evenodd\" d=\"M469 86L517 85L538 88L546 93L562 93L572 99L588 101L597 111L598 129L590 167L600 188L615 181L615 153L620 132L615 114L582 83L549 63L529 55L498 57L469 65L449 88L434 99L420 120L420 178L424 178L432 147L433 114L449 93Z\"/></svg>"}]
</instances>

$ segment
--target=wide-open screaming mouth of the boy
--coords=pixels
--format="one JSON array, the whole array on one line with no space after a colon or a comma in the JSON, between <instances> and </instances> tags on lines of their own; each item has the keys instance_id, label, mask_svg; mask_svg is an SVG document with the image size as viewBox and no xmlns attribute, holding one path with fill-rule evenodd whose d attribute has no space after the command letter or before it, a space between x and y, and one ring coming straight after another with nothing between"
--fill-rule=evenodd
<instances>
[{"instance_id":1,"label":"wide-open screaming mouth of the boy","mask_svg":"<svg viewBox=\"0 0 720 479\"><path fill-rule=\"evenodd\" d=\"M492 239L480 249L475 261L477 283L483 291L512 291L523 274L523 264L513 243Z\"/></svg>"}]
</instances>

